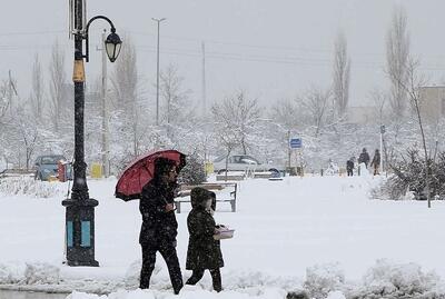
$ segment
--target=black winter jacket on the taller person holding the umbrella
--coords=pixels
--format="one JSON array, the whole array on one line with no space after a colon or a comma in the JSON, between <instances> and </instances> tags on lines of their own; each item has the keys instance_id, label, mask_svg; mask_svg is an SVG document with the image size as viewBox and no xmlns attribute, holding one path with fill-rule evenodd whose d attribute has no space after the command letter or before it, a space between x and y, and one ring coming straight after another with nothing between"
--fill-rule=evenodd
<instances>
[{"instance_id":1,"label":"black winter jacket on the taller person holding the umbrella","mask_svg":"<svg viewBox=\"0 0 445 299\"><path fill-rule=\"evenodd\" d=\"M142 215L139 243L160 245L176 242L178 222L175 211L166 212L166 205L174 203L174 188L160 180L151 180L142 188L139 211Z\"/></svg>"}]
</instances>

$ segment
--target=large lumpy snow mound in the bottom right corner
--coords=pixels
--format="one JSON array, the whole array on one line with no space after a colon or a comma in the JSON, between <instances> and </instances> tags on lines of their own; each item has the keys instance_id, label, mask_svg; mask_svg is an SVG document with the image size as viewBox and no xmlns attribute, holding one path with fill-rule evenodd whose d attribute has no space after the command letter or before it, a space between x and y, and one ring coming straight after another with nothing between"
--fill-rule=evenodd
<instances>
[{"instance_id":1,"label":"large lumpy snow mound in the bottom right corner","mask_svg":"<svg viewBox=\"0 0 445 299\"><path fill-rule=\"evenodd\" d=\"M377 260L364 277L363 288L353 291L356 299L368 298L444 298L439 277L424 273L415 263L392 263Z\"/></svg>"}]
</instances>

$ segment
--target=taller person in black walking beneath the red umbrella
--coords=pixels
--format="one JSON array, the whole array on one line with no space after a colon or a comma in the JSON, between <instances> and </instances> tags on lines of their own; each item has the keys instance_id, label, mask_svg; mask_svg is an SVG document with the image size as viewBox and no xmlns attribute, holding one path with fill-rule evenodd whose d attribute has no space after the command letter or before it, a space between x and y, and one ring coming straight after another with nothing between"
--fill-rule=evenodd
<instances>
[{"instance_id":1,"label":"taller person in black walking beneath the red umbrella","mask_svg":"<svg viewBox=\"0 0 445 299\"><path fill-rule=\"evenodd\" d=\"M142 247L140 288L149 288L156 263L156 252L159 251L167 263L176 295L182 288L182 275L176 252L178 222L175 216L174 199L177 176L175 161L158 158L155 161L155 177L142 188L139 203L142 215L139 235L139 243Z\"/></svg>"}]
</instances>

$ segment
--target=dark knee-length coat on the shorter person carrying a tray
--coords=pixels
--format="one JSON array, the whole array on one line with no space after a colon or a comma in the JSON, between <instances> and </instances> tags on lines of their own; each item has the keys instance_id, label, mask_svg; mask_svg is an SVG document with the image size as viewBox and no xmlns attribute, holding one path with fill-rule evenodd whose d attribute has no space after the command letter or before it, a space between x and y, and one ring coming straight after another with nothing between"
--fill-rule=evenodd
<instances>
[{"instance_id":1,"label":"dark knee-length coat on the shorter person carrying a tray","mask_svg":"<svg viewBox=\"0 0 445 299\"><path fill-rule=\"evenodd\" d=\"M224 267L219 240L214 239L215 220L204 207L192 208L187 217L189 232L187 270L218 269Z\"/></svg>"}]
</instances>

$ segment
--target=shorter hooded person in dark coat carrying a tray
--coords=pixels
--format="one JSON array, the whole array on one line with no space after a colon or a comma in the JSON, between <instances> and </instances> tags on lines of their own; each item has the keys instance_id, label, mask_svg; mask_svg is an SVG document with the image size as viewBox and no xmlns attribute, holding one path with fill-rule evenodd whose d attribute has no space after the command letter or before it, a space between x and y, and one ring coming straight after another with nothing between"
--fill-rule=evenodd
<instances>
[{"instance_id":1,"label":"shorter hooded person in dark coat carrying a tray","mask_svg":"<svg viewBox=\"0 0 445 299\"><path fill-rule=\"evenodd\" d=\"M190 193L191 211L187 217L190 236L186 269L192 270L192 273L186 285L196 285L202 278L204 271L208 269L214 290L219 292L222 290L219 268L224 267L224 259L219 240L214 239L216 223L210 211L214 203L211 193L199 187L194 188Z\"/></svg>"}]
</instances>

